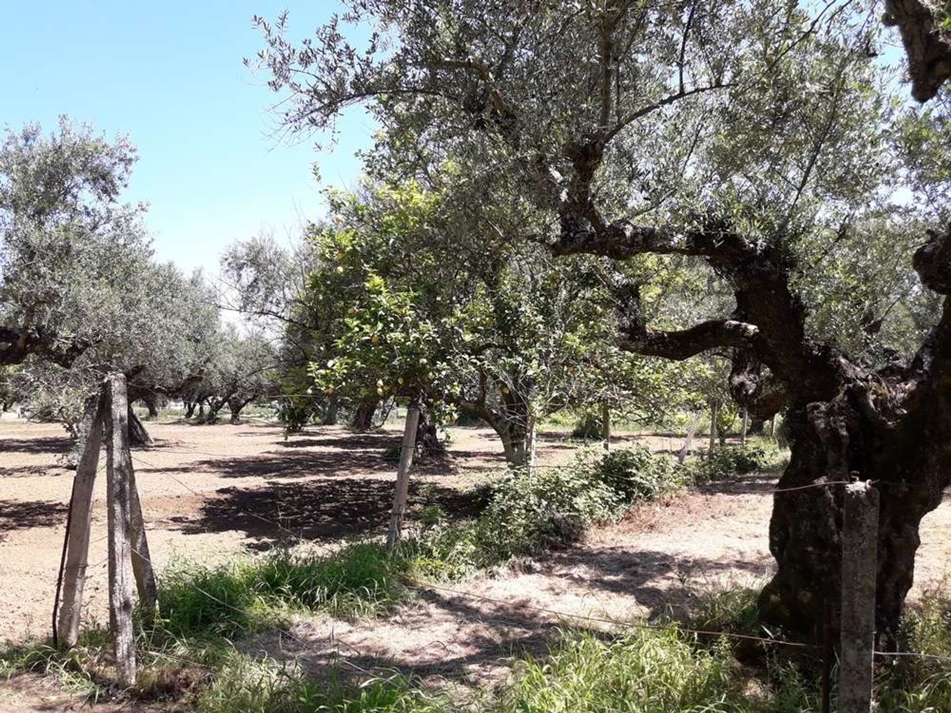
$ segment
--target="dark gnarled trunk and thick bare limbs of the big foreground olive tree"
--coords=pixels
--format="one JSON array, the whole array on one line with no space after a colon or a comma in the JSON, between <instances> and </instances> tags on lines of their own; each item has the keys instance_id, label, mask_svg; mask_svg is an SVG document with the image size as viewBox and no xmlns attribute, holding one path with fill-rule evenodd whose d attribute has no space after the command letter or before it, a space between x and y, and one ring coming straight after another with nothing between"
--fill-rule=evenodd
<instances>
[{"instance_id":1,"label":"dark gnarled trunk and thick bare limbs of the big foreground olive tree","mask_svg":"<svg viewBox=\"0 0 951 713\"><path fill-rule=\"evenodd\" d=\"M684 330L650 330L640 286L618 274L621 346L673 359L731 348L733 397L762 417L786 405L791 456L774 495L769 545L777 571L761 596L763 618L816 634L827 601L836 626L842 486L831 484L871 481L881 495L877 628L880 646L893 646L919 523L951 484L951 302L945 298L939 324L910 363L870 371L806 335L805 305L790 289L792 262L782 246L756 245L721 222L686 236L627 231L609 242L569 232L555 252L702 256L732 283L736 309ZM951 235L930 234L914 267L927 288L951 294Z\"/></svg>"}]
</instances>

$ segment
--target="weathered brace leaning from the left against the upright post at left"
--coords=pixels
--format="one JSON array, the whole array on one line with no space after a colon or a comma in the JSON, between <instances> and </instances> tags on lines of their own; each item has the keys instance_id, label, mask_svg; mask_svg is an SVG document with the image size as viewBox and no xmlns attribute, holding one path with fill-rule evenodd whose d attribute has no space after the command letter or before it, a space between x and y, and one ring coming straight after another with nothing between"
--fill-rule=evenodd
<instances>
[{"instance_id":1,"label":"weathered brace leaning from the left against the upright post at left","mask_svg":"<svg viewBox=\"0 0 951 713\"><path fill-rule=\"evenodd\" d=\"M87 405L83 415L86 443L76 466L69 500L66 558L63 562L63 594L60 599L56 635L58 646L76 646L79 620L83 610L83 588L89 556L89 532L92 527L92 489L99 468L103 441L104 399L102 395Z\"/></svg>"}]
</instances>

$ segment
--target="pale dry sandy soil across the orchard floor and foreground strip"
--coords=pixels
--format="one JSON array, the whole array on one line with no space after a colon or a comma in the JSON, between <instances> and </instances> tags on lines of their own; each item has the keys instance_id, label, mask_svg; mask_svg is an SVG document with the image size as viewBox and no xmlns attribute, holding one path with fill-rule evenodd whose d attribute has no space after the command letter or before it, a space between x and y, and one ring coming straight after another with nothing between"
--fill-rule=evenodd
<instances>
[{"instance_id":1,"label":"pale dry sandy soil across the orchard floor and foreground strip","mask_svg":"<svg viewBox=\"0 0 951 713\"><path fill-rule=\"evenodd\" d=\"M301 537L332 544L380 532L392 497L394 466L380 453L396 430L352 434L313 429L285 439L263 423L215 427L153 424L155 445L134 453L149 544L161 569L173 557L223 560ZM452 465L424 466L412 502L438 502L465 514L463 491L502 468L491 431L454 429ZM679 445L629 436L655 450ZM54 425L0 420L0 641L45 636L62 548L72 472ZM541 439L543 465L564 463L575 446ZM420 589L415 601L372 623L298 621L289 632L247 646L319 667L329 659L354 670L398 667L449 685L494 682L526 651L543 651L560 624L577 616L630 619L677 607L725 585L752 585L772 566L767 523L773 480L720 484L643 506L624 522L594 530L580 546L520 563L464 587ZM97 483L87 619L106 614L105 488ZM922 523L918 584L941 581L951 552L951 506ZM597 623L588 622L589 626ZM606 625L607 626L607 625ZM0 684L0 713L68 710L75 704L39 682ZM98 708L109 710L108 708ZM126 708L128 709L128 708ZM144 708L135 708L144 709Z\"/></svg>"}]
</instances>

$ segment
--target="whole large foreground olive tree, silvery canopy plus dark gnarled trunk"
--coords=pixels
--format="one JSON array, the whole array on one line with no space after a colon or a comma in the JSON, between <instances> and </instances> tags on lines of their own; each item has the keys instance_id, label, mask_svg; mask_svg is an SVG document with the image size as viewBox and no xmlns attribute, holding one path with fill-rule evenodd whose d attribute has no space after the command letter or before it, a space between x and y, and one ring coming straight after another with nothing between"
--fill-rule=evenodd
<instances>
[{"instance_id":1,"label":"whole large foreground olive tree, silvery canopy plus dark gnarled trunk","mask_svg":"<svg viewBox=\"0 0 951 713\"><path fill-rule=\"evenodd\" d=\"M922 101L947 78L930 8L886 3ZM259 20L287 129L320 139L365 106L382 127L371 170L451 162L442 200L478 206L479 237L501 201L517 206L499 211L507 239L599 260L622 348L729 350L734 398L786 405L782 486L883 481L876 617L894 645L918 524L951 473L951 238L920 200L947 195L941 154L922 157L946 107L904 130L878 5L361 0L301 44L288 18ZM645 255L703 263L726 310L652 316L652 280L627 267ZM839 509L818 487L777 498L767 617L808 628L838 601Z\"/></svg>"}]
</instances>

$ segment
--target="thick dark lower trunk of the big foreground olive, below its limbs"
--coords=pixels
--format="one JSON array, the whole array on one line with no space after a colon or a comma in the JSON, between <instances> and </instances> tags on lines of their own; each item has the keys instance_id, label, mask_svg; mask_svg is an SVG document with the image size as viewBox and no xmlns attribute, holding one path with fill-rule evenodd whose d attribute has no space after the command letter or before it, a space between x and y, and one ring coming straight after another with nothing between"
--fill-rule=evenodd
<instances>
[{"instance_id":1,"label":"thick dark lower trunk of the big foreground olive, below its limbs","mask_svg":"<svg viewBox=\"0 0 951 713\"><path fill-rule=\"evenodd\" d=\"M815 626L828 600L835 605L832 626L837 629L844 486L821 484L867 480L881 499L878 646L896 646L904 599L914 580L919 525L951 484L949 424L941 417L951 414L948 387L941 382L921 386L922 402L941 408L912 409L897 421L869 400L860 383L845 383L831 401L790 407L785 422L790 460L773 495L769 526L769 549L778 569L760 595L764 619L818 638ZM790 488L800 490L784 491Z\"/></svg>"}]
</instances>

